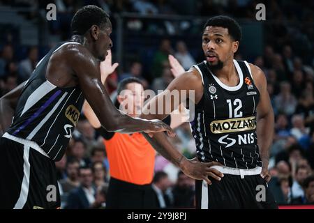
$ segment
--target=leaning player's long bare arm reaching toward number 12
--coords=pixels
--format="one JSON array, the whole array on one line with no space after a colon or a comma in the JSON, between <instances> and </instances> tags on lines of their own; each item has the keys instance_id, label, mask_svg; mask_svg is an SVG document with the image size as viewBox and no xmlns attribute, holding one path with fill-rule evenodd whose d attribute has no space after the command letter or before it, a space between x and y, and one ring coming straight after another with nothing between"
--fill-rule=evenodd
<instances>
[{"instance_id":1,"label":"leaning player's long bare arm reaching toward number 12","mask_svg":"<svg viewBox=\"0 0 314 223\"><path fill-rule=\"evenodd\" d=\"M110 132L167 131L171 136L174 135L171 128L162 121L132 118L114 107L101 82L99 61L94 59L85 47L75 45L66 54L68 54L66 58L77 76L84 97L103 128Z\"/></svg>"}]
</instances>

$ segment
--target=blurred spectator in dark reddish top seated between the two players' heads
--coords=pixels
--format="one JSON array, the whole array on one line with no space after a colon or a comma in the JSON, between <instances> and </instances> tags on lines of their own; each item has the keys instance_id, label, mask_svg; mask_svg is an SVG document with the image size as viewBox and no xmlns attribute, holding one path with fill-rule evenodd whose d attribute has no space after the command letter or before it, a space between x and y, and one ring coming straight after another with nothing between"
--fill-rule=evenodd
<instances>
[{"instance_id":1,"label":"blurred spectator in dark reddish top seated between the two players' heads","mask_svg":"<svg viewBox=\"0 0 314 223\"><path fill-rule=\"evenodd\" d=\"M170 40L164 39L160 43L158 51L154 55L152 74L154 78L160 77L163 72L163 65L168 61L168 55L173 54L173 49L171 47Z\"/></svg>"}]
</instances>

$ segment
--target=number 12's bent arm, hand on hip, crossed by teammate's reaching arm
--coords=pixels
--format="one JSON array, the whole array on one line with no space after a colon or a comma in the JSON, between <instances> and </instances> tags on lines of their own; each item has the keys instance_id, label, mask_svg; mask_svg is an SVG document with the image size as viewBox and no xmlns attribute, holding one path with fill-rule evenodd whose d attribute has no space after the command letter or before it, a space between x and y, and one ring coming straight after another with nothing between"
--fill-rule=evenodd
<instances>
[{"instance_id":1,"label":"number 12's bent arm, hand on hip, crossed by teammate's reaching arm","mask_svg":"<svg viewBox=\"0 0 314 223\"><path fill-rule=\"evenodd\" d=\"M167 115L166 107L170 106L170 112L177 108L181 102L184 102L185 98L179 97L177 100L175 98L171 98L170 95L174 93L174 91L187 91L189 94L190 91L194 91L194 89L202 89L202 81L200 76L197 74L196 70L189 70L188 72L184 72L184 74L180 75L176 79L174 79L170 85L167 87L167 91L156 95L153 99L149 100L147 105L144 106L142 115L140 117L147 119L163 119ZM198 93L202 91L197 91ZM197 93L195 91L195 93ZM181 94L179 94L181 95ZM196 96L197 97L197 96ZM171 98L170 100L165 100L165 98ZM167 105L167 106L166 106ZM161 106L161 108L160 108ZM149 110L153 107L158 107L159 111L163 111L158 114L149 113ZM168 111L169 112L169 111ZM158 132L154 134L153 137L144 134L144 137L149 141L149 143L155 148L160 155L163 155L167 160L175 164L179 167L184 173L192 178L198 180L206 180L207 183L211 184L211 180L209 180L208 176L216 180L220 180L223 177L223 174L217 171L214 168L211 168L213 165L221 165L218 162L199 162L196 159L187 160L184 155L177 151L170 141L167 139L167 136L163 132Z\"/></svg>"}]
</instances>

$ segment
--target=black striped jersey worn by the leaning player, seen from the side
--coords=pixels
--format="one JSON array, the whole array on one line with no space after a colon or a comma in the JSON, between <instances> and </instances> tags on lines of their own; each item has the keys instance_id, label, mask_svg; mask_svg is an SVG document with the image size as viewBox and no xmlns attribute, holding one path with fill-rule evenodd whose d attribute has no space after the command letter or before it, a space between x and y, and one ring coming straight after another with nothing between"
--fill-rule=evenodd
<instances>
[{"instance_id":1,"label":"black striped jersey worn by the leaning player, seen from the side","mask_svg":"<svg viewBox=\"0 0 314 223\"><path fill-rule=\"evenodd\" d=\"M38 63L17 102L13 123L7 132L35 141L52 160L60 160L80 117L84 97L79 86L58 87L45 72L54 52L67 44L59 43Z\"/></svg>"}]
</instances>

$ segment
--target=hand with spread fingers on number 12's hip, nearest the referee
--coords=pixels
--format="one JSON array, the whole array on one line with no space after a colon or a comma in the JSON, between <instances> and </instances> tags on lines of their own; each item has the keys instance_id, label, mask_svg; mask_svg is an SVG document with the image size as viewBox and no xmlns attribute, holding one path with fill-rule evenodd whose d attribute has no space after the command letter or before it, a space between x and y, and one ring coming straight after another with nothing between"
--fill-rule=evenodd
<instances>
[{"instance_id":1,"label":"hand with spread fingers on number 12's hip, nearest the referee","mask_svg":"<svg viewBox=\"0 0 314 223\"><path fill-rule=\"evenodd\" d=\"M184 174L194 178L195 180L205 180L209 185L211 185L211 180L209 176L215 180L221 180L223 178L223 173L217 169L212 168L212 166L222 166L219 162L200 162L197 158L192 160L187 160L188 162L182 168Z\"/></svg>"}]
</instances>

